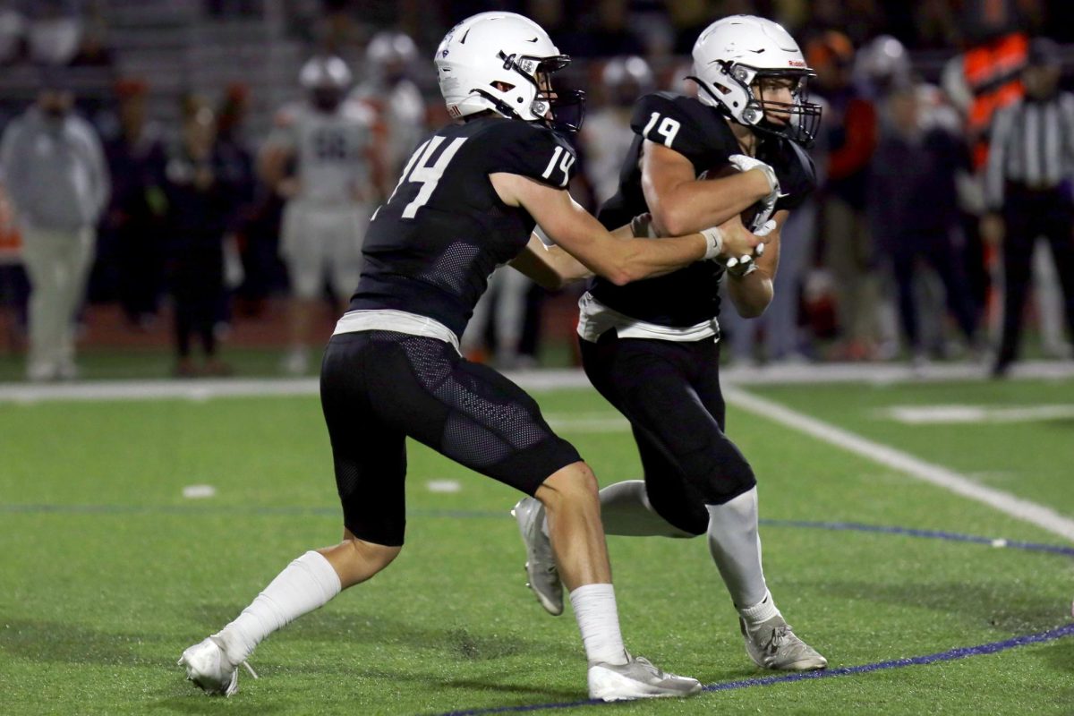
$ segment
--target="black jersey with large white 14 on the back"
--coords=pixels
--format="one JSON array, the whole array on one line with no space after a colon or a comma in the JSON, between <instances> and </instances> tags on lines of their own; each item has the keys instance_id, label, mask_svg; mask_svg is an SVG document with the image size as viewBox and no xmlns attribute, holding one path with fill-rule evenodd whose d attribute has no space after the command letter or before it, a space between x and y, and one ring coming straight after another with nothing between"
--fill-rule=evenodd
<instances>
[{"instance_id":1,"label":"black jersey with large white 14 on the back","mask_svg":"<svg viewBox=\"0 0 1074 716\"><path fill-rule=\"evenodd\" d=\"M522 251L534 219L504 204L489 180L520 174L566 188L575 154L539 125L488 117L436 132L410 157L374 214L350 309L433 318L462 336L489 275Z\"/></svg>"}]
</instances>

